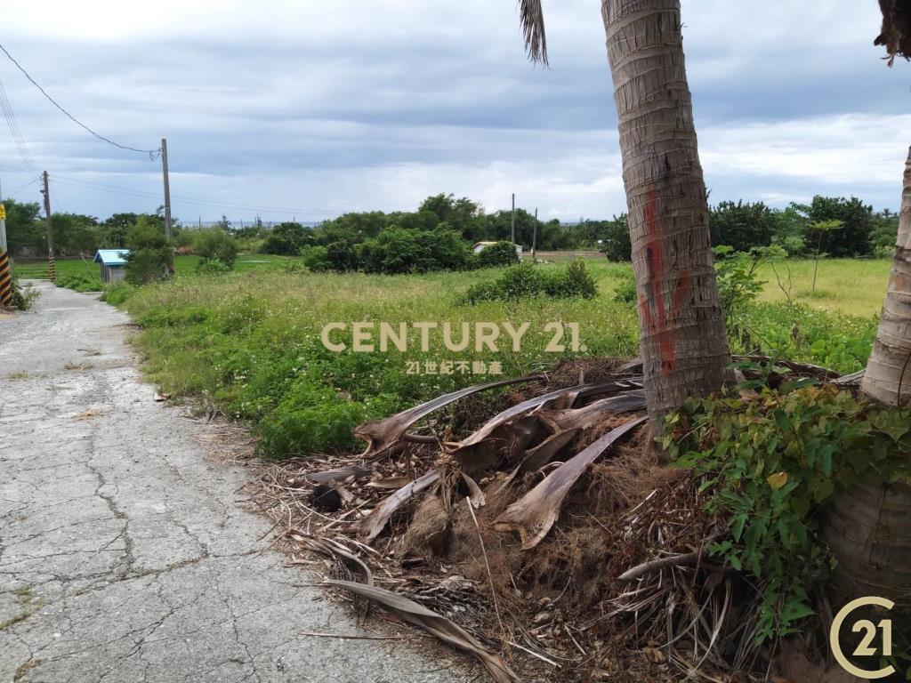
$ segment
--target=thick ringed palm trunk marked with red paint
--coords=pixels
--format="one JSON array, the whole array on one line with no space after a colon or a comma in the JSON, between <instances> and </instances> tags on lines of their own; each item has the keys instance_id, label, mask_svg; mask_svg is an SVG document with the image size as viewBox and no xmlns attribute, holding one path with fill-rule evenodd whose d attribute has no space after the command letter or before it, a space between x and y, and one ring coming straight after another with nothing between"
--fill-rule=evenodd
<instances>
[{"instance_id":1,"label":"thick ringed palm trunk marked with red paint","mask_svg":"<svg viewBox=\"0 0 911 683\"><path fill-rule=\"evenodd\" d=\"M602 0L652 418L726 378L727 336L693 127L680 0Z\"/></svg>"}]
</instances>

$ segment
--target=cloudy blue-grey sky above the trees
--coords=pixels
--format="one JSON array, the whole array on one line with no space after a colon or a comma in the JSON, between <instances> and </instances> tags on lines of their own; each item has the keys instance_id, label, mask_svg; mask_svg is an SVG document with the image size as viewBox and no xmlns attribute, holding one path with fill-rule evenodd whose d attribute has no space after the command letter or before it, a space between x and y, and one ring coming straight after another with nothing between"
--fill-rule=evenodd
<instances>
[{"instance_id":1,"label":"cloudy blue-grey sky above the trees","mask_svg":"<svg viewBox=\"0 0 911 683\"><path fill-rule=\"evenodd\" d=\"M624 209L597 0L544 0L549 69L513 0L4 0L2 43L75 117L124 145L168 138L183 220L319 220L436 192L545 218ZM875 0L683 0L713 202L855 194L896 209L911 65L873 46ZM55 210L154 210L160 163L111 148L0 55ZM37 200L0 121L5 194Z\"/></svg>"}]
</instances>

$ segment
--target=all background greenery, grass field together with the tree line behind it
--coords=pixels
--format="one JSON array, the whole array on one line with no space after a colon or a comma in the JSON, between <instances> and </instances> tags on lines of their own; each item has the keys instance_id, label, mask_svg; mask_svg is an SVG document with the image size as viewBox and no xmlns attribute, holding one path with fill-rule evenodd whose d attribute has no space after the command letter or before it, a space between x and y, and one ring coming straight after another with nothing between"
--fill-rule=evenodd
<instances>
[{"instance_id":1,"label":"all background greenery, grass field together with the tree line behind it","mask_svg":"<svg viewBox=\"0 0 911 683\"><path fill-rule=\"evenodd\" d=\"M36 206L9 202L7 211L15 216L11 244L40 242ZM538 221L540 249L598 248L608 257L584 266L515 265L515 250L502 241L509 219L437 195L414 212L350 213L316 227L234 229L223 219L210 229L178 228L170 244L159 215L62 215L55 228L61 254L134 250L129 281L104 297L143 326L137 344L152 379L249 420L263 454L283 457L351 447L357 423L489 379L423 372L425 363L496 362L504 374L548 369L560 354L544 352L547 322L578 322L583 354L635 355L635 285L630 264L613 262L629 260L626 217ZM858 199L817 197L783 210L726 202L711 221L713 240L724 245L717 268L734 352L778 352L838 372L864 366L889 270L888 260L869 257L895 239L895 216ZM517 211L517 241L530 246L535 230L534 217ZM477 255L474 240L501 241ZM831 253L868 258L823 258ZM100 290L91 255L57 260L58 284ZM176 277L165 278L171 267ZM27 272L18 262L15 270ZM518 353L453 354L439 343L430 352L413 345L407 353L333 353L319 341L328 321L531 327ZM409 361L422 372L409 373Z\"/></svg>"}]
</instances>

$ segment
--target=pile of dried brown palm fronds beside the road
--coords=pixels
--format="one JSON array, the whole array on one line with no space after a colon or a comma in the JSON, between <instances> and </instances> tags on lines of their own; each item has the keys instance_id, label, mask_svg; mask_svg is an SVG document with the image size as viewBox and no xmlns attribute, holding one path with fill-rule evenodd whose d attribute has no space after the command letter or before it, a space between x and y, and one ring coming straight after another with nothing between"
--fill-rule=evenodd
<instances>
[{"instance_id":1,"label":"pile of dried brown palm fronds beside the road","mask_svg":"<svg viewBox=\"0 0 911 683\"><path fill-rule=\"evenodd\" d=\"M652 447L640 372L566 362L446 394L359 427L361 454L262 465L251 499L294 563L496 681L748 678L768 660L752 645L761 596L711 562L726 530Z\"/></svg>"}]
</instances>

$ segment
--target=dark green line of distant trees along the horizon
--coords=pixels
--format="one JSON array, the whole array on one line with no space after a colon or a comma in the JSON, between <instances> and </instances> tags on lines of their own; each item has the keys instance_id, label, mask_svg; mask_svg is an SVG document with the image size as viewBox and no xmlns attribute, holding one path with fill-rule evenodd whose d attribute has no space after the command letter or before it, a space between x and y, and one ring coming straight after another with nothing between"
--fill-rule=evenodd
<instances>
[{"instance_id":1,"label":"dark green line of distant trees along the horizon","mask_svg":"<svg viewBox=\"0 0 911 683\"><path fill-rule=\"evenodd\" d=\"M6 199L6 231L16 257L43 257L47 235L40 208L34 202ZM886 256L895 245L897 214L874 211L861 199L816 196L810 204L792 203L772 209L761 201L722 201L710 209L712 244L737 251L778 245L792 256ZM75 213L53 216L58 256L91 255L97 249L128 248L128 232L142 225L163 233L163 211L116 213L107 219ZM214 232L212 231L214 230ZM218 232L236 243L220 240L219 254L212 248ZM242 229L222 218L208 236L195 227L174 221L172 248L186 251L200 246L203 255L230 267L231 253L247 252L302 255L313 270L363 270L366 272L420 272L466 270L495 260L472 252L478 241L508 241L512 234L511 211L486 213L475 201L452 194L428 197L415 211L364 211L345 213L315 227L283 222L273 227L254 220ZM525 209L516 209L516 242L526 250L600 250L610 260L630 260L630 233L625 214L607 220L579 219L561 224L557 219L537 220ZM208 246L207 246L208 245ZM484 254L484 251L481 252ZM499 251L500 260L506 250ZM498 262L498 261L497 261Z\"/></svg>"}]
</instances>

